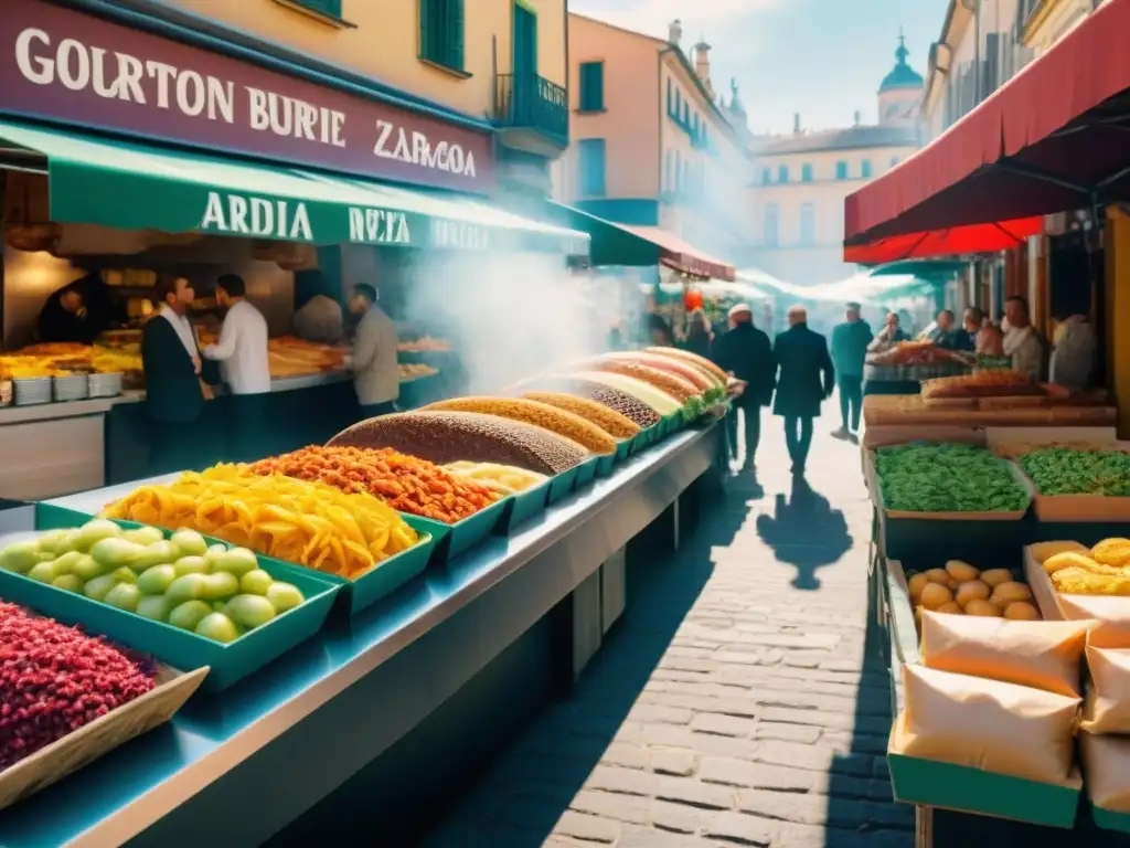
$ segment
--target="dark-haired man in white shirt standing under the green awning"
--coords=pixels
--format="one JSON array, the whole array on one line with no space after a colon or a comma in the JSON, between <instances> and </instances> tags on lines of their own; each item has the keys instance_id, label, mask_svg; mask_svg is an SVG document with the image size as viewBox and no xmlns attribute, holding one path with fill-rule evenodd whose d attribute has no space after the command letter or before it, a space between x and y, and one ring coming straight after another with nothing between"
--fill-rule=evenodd
<instances>
[{"instance_id":1,"label":"dark-haired man in white shirt standing under the green awning","mask_svg":"<svg viewBox=\"0 0 1130 848\"><path fill-rule=\"evenodd\" d=\"M268 427L266 400L271 390L267 319L246 300L246 284L235 274L225 274L216 282L216 303L224 310L219 341L202 353L219 362L231 392L226 399L229 459L261 459L269 452L262 448Z\"/></svg>"}]
</instances>

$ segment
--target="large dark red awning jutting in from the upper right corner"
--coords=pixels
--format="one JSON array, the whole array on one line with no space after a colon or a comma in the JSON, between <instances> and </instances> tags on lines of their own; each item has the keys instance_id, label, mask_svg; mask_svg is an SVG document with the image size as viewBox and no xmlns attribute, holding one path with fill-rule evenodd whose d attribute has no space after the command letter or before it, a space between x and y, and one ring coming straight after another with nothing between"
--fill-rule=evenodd
<instances>
[{"instance_id":1,"label":"large dark red awning jutting in from the upper right corner","mask_svg":"<svg viewBox=\"0 0 1130 848\"><path fill-rule=\"evenodd\" d=\"M1130 198L1130 0L1110 0L845 201L845 244Z\"/></svg>"}]
</instances>

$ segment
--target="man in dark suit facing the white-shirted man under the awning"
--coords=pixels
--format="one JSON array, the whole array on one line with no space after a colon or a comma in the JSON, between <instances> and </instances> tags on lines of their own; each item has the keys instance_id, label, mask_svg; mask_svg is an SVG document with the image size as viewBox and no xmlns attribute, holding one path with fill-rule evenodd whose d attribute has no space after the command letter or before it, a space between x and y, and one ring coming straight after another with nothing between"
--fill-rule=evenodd
<instances>
[{"instance_id":1,"label":"man in dark suit facing the white-shirted man under the awning","mask_svg":"<svg viewBox=\"0 0 1130 848\"><path fill-rule=\"evenodd\" d=\"M146 414L150 424L150 473L198 469L208 464L203 449L209 386L219 384L216 363L202 361L197 336L189 323L189 304L195 298L184 277L157 284L158 311L141 334L146 381ZM219 455L219 451L216 451Z\"/></svg>"}]
</instances>

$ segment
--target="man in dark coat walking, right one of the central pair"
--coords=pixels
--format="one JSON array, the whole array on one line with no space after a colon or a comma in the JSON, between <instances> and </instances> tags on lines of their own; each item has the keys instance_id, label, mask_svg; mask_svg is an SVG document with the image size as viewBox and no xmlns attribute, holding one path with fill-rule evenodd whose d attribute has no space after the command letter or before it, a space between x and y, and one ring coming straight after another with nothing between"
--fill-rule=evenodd
<instances>
[{"instance_id":1,"label":"man in dark coat walking, right one of the central pair","mask_svg":"<svg viewBox=\"0 0 1130 848\"><path fill-rule=\"evenodd\" d=\"M812 418L819 417L820 404L832 397L836 386L828 344L808 329L803 306L789 310L789 329L773 343L773 361L780 370L773 413L784 417L792 473L803 474L812 443Z\"/></svg>"}]
</instances>

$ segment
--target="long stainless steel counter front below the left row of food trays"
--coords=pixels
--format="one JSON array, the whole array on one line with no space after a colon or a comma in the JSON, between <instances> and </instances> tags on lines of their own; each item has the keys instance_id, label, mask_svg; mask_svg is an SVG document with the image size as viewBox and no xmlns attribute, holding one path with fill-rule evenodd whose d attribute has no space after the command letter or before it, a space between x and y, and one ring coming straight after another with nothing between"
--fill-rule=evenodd
<instances>
[{"instance_id":1,"label":"long stainless steel counter front below the left row of food trays","mask_svg":"<svg viewBox=\"0 0 1130 848\"><path fill-rule=\"evenodd\" d=\"M194 699L167 727L0 812L0 845L261 843L408 734L654 521L710 468L719 430L677 434L221 698ZM95 512L116 494L53 503Z\"/></svg>"}]
</instances>

